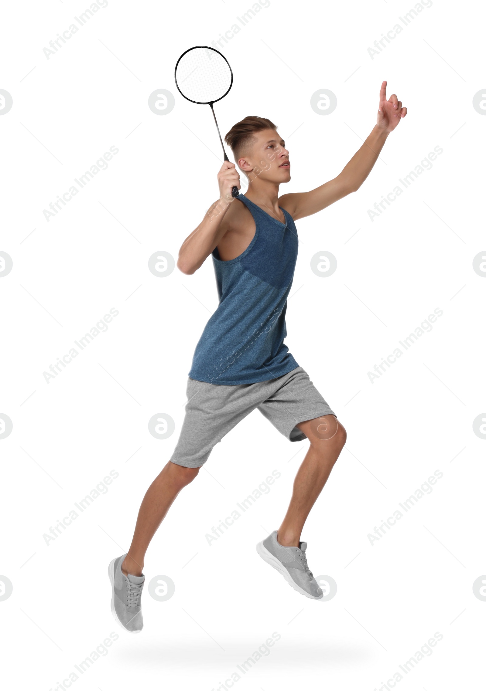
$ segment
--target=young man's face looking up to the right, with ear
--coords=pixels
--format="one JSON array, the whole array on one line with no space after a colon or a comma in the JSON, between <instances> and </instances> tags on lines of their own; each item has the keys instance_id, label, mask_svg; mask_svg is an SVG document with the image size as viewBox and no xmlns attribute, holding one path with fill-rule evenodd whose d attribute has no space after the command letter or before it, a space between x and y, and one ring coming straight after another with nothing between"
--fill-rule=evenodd
<instances>
[{"instance_id":1,"label":"young man's face looking up to the right, with ear","mask_svg":"<svg viewBox=\"0 0 486 691\"><path fill-rule=\"evenodd\" d=\"M290 161L285 142L277 131L272 129L254 133L254 141L239 157L238 165L247 173L250 180L260 178L270 182L290 180Z\"/></svg>"}]
</instances>

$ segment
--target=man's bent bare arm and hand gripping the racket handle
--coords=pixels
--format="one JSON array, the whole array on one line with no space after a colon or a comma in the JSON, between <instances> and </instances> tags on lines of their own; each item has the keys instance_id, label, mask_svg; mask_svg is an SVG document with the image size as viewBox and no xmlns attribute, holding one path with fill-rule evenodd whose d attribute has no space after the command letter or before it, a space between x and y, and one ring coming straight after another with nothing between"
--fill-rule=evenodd
<instances>
[{"instance_id":1,"label":"man's bent bare arm and hand gripping the racket handle","mask_svg":"<svg viewBox=\"0 0 486 691\"><path fill-rule=\"evenodd\" d=\"M234 201L232 188L235 185L238 189L241 187L234 163L223 163L218 173L218 184L220 198L207 209L201 223L180 247L177 267L183 274L194 274L228 230L225 216Z\"/></svg>"}]
</instances>

